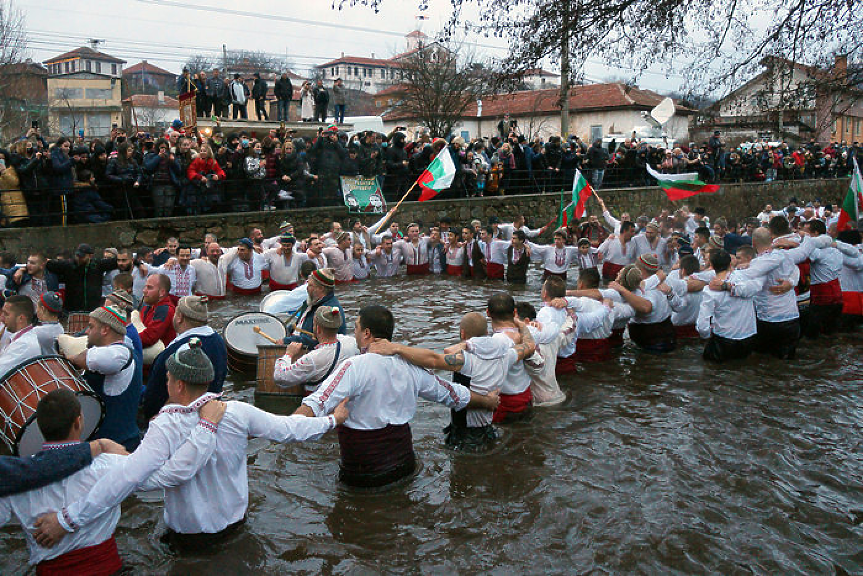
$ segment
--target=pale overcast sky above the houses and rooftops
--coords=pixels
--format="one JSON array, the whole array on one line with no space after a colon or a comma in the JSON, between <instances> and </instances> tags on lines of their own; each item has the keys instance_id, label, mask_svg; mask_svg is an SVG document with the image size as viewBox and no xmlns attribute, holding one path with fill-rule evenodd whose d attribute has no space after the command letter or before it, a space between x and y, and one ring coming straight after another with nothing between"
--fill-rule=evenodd
<instances>
[{"instance_id":1,"label":"pale overcast sky above the houses and rooftops","mask_svg":"<svg viewBox=\"0 0 863 576\"><path fill-rule=\"evenodd\" d=\"M286 54L299 74L342 53L385 58L403 51L404 35L414 29L434 36L452 10L449 0L430 0L428 10L422 12L427 19L418 20L416 0L383 0L377 14L361 6L335 10L332 0L12 1L24 13L34 60L46 60L96 38L104 41L101 51L127 60L126 66L146 59L175 73L193 53L220 55L222 44L229 50ZM472 40L479 53L506 54L501 40ZM631 72L591 63L586 76L601 81L630 78ZM654 70L643 75L638 85L669 91L680 80Z\"/></svg>"}]
</instances>

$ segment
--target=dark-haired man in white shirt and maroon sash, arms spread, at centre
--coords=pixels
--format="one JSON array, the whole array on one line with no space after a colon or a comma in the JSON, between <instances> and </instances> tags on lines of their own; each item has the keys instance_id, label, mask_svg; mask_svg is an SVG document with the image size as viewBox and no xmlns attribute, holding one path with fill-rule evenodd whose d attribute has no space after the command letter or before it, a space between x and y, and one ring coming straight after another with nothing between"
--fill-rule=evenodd
<instances>
[{"instance_id":1,"label":"dark-haired man in white shirt and maroon sash, arms spread, at centre","mask_svg":"<svg viewBox=\"0 0 863 576\"><path fill-rule=\"evenodd\" d=\"M394 328L389 310L366 306L354 324L354 338L365 350L376 340L392 340ZM325 414L350 398L351 414L339 427L339 479L352 486L383 486L414 473L409 422L419 397L458 410L493 410L498 401L496 394L472 393L402 358L365 353L343 362L295 414Z\"/></svg>"}]
</instances>

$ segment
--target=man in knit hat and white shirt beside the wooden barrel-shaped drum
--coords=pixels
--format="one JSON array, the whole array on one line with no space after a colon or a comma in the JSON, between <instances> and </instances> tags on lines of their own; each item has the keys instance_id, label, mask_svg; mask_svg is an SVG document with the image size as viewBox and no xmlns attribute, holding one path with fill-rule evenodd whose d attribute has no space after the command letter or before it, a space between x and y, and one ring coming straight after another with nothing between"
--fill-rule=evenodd
<instances>
[{"instance_id":1,"label":"man in knit hat and white shirt beside the wooden barrel-shaped drum","mask_svg":"<svg viewBox=\"0 0 863 576\"><path fill-rule=\"evenodd\" d=\"M345 359L360 353L353 336L339 334L341 311L320 306L315 311L315 338L318 345L303 354L301 342L288 345L287 353L276 360L273 378L283 388L305 387L305 394L317 390Z\"/></svg>"}]
</instances>

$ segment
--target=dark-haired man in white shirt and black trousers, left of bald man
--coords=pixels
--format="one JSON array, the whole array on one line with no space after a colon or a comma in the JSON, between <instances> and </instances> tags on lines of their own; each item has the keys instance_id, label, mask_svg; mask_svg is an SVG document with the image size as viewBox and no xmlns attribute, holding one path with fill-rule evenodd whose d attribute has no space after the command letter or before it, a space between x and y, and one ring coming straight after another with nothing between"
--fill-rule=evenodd
<instances>
[{"instance_id":1,"label":"dark-haired man in white shirt and black trousers, left of bald man","mask_svg":"<svg viewBox=\"0 0 863 576\"><path fill-rule=\"evenodd\" d=\"M710 264L716 272L715 280L728 282L731 255L725 250L710 253ZM707 338L703 357L713 362L726 362L746 358L755 344L755 303L752 297L761 288L761 282L739 281L735 291L706 290L701 299L696 327L702 338Z\"/></svg>"}]
</instances>

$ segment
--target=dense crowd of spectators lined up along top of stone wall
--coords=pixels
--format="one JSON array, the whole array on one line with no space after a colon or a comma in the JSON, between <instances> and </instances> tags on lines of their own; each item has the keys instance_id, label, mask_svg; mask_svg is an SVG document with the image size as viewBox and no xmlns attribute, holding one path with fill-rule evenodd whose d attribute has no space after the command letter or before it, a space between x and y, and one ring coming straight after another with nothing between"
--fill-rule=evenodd
<instances>
[{"instance_id":1,"label":"dense crowd of spectators lined up along top of stone wall","mask_svg":"<svg viewBox=\"0 0 863 576\"><path fill-rule=\"evenodd\" d=\"M428 132L408 139L401 127L349 137L335 124L311 138L285 128L263 134L216 130L203 137L186 134L179 120L159 135L115 128L105 140L61 137L49 144L33 128L0 148L0 224L340 205L339 177L356 175L380 178L387 200L397 201L442 150L457 172L441 198L557 194L571 186L576 170L597 189L650 186L655 182L647 164L666 173L697 172L705 182L841 178L851 172L854 157L863 157L856 142L726 148L718 134L703 146L666 150L634 139L589 146L577 136L527 140L514 131L470 142L433 139Z\"/></svg>"}]
</instances>

